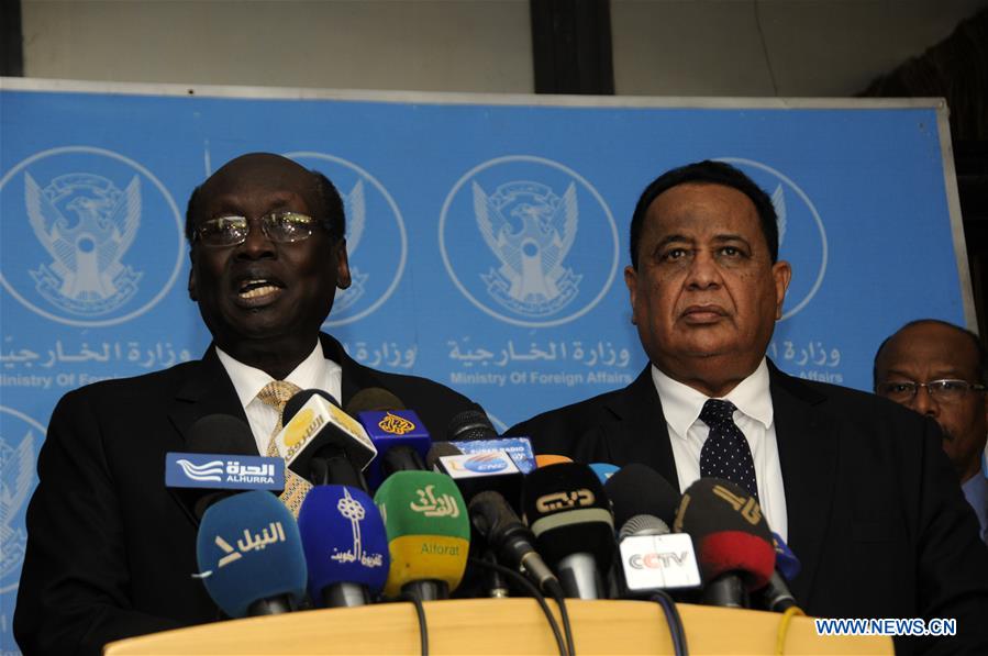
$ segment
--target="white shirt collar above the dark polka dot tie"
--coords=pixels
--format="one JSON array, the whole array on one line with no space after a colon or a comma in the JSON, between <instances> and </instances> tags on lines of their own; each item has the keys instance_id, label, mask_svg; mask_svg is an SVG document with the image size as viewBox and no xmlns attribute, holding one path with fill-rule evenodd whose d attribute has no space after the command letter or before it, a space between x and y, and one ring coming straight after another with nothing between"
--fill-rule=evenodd
<instances>
[{"instance_id":1,"label":"white shirt collar above the dark polka dot tie","mask_svg":"<svg viewBox=\"0 0 988 656\"><path fill-rule=\"evenodd\" d=\"M685 440L687 431L699 419L703 403L710 397L674 380L655 365L652 365L652 380L662 401L662 411L666 422L676 435ZM737 410L763 424L767 430L771 426L773 418L768 382L768 364L765 358L762 358L758 367L723 398L734 403Z\"/></svg>"}]
</instances>

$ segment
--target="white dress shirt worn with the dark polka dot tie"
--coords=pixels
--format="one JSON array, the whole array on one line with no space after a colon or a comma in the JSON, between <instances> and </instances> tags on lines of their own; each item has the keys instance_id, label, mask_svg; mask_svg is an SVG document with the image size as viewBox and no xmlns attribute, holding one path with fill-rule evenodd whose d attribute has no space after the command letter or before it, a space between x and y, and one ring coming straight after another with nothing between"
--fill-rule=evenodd
<instances>
[{"instance_id":1,"label":"white dress shirt worn with the dark polka dot tie","mask_svg":"<svg viewBox=\"0 0 988 656\"><path fill-rule=\"evenodd\" d=\"M669 429L676 476L679 477L679 491L682 492L700 478L700 451L710 429L699 418L709 397L673 380L655 365L652 365L652 380ZM779 465L779 447L775 438L768 364L765 358L751 376L737 383L723 399L734 403L737 409L734 411L734 423L744 433L752 449L755 477L758 480L758 500L768 527L784 541L788 540L786 490Z\"/></svg>"}]
</instances>

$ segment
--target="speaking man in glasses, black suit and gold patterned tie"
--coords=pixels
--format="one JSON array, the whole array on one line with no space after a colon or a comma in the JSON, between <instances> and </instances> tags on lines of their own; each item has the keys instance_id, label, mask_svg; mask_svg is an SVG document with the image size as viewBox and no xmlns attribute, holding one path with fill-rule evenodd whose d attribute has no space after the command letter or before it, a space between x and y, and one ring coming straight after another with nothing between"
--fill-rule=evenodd
<instances>
[{"instance_id":1,"label":"speaking man in glasses, black suit and gold patterned tie","mask_svg":"<svg viewBox=\"0 0 988 656\"><path fill-rule=\"evenodd\" d=\"M322 175L244 155L189 200L189 296L213 336L201 360L67 393L38 456L14 634L26 654L96 654L110 641L214 620L197 527L164 486L165 453L200 418L246 421L265 454L278 422L258 392L287 380L345 407L385 388L433 434L478 407L439 383L376 371L320 333L349 285L343 203Z\"/></svg>"}]
</instances>

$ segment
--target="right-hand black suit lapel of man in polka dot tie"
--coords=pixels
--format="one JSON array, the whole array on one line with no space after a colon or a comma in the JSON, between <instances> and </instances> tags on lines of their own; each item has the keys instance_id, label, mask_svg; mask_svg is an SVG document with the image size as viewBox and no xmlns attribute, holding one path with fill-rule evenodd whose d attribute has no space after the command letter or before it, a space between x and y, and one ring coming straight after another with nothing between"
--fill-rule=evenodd
<instances>
[{"instance_id":1,"label":"right-hand black suit lapel of man in polka dot tie","mask_svg":"<svg viewBox=\"0 0 988 656\"><path fill-rule=\"evenodd\" d=\"M806 604L813 589L817 564L822 556L836 485L839 435L824 411L826 397L769 367L771 403L786 489L789 520L787 544L802 569L791 582L796 599Z\"/></svg>"}]
</instances>

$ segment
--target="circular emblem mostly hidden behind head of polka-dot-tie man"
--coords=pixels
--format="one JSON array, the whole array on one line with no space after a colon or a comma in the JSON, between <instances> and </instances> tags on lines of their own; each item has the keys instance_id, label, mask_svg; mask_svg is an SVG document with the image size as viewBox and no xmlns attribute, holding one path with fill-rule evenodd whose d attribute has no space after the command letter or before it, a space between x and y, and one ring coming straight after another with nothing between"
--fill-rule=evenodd
<instances>
[{"instance_id":1,"label":"circular emblem mostly hidden behind head of polka-dot-tie man","mask_svg":"<svg viewBox=\"0 0 988 656\"><path fill-rule=\"evenodd\" d=\"M752 159L721 157L747 174L771 198L779 227L779 259L797 265L804 275L793 276L786 292L781 319L806 308L826 275L828 244L823 220L810 197L782 173Z\"/></svg>"}]
</instances>

